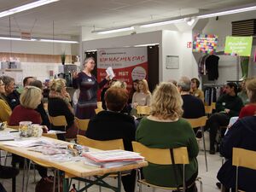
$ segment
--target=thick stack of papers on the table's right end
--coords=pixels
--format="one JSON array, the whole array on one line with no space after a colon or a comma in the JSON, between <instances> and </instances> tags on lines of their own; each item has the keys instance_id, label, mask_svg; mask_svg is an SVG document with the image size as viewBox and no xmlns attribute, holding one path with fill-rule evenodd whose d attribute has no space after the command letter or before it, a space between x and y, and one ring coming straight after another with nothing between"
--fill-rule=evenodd
<instances>
[{"instance_id":1,"label":"thick stack of papers on the table's right end","mask_svg":"<svg viewBox=\"0 0 256 192\"><path fill-rule=\"evenodd\" d=\"M93 151L83 154L85 164L100 167L125 166L144 160L140 154L125 150Z\"/></svg>"}]
</instances>

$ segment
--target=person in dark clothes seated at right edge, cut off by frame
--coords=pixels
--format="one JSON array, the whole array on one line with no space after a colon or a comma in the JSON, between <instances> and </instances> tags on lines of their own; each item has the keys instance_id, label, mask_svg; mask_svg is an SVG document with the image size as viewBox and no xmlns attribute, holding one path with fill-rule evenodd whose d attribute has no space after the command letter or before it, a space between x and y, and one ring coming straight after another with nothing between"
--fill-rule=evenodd
<instances>
[{"instance_id":1,"label":"person in dark clothes seated at right edge, cut off by frame","mask_svg":"<svg viewBox=\"0 0 256 192\"><path fill-rule=\"evenodd\" d=\"M232 148L245 148L256 151L256 116L248 116L238 119L230 127L227 135L224 137L220 154L227 160L218 171L218 180L224 185L226 190L234 189L236 186L236 166L232 166ZM247 168L239 168L238 189L247 192L255 191L256 171ZM233 190L232 190L233 191Z\"/></svg>"}]
</instances>

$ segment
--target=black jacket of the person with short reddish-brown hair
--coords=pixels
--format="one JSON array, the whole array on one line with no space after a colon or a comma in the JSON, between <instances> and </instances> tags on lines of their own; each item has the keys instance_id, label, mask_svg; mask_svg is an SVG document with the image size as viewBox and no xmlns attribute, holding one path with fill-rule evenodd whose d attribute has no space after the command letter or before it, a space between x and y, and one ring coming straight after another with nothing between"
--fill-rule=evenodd
<instances>
[{"instance_id":1,"label":"black jacket of the person with short reddish-brown hair","mask_svg":"<svg viewBox=\"0 0 256 192\"><path fill-rule=\"evenodd\" d=\"M125 150L132 150L131 141L135 141L134 119L124 113L102 111L90 119L86 137L105 141L122 138Z\"/></svg>"}]
</instances>

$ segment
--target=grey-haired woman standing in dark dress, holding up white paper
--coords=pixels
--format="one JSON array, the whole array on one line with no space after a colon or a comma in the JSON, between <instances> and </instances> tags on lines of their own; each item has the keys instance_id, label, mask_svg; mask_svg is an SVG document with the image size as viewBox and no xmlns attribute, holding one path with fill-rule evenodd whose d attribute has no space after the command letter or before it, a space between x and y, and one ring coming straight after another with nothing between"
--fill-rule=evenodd
<instances>
[{"instance_id":1,"label":"grey-haired woman standing in dark dress, holding up white paper","mask_svg":"<svg viewBox=\"0 0 256 192\"><path fill-rule=\"evenodd\" d=\"M75 116L79 119L90 119L97 108L97 89L102 88L108 82L108 75L101 83L97 83L96 77L91 74L95 67L93 57L86 58L84 70L73 77L73 87L80 89L79 102L77 104Z\"/></svg>"}]
</instances>

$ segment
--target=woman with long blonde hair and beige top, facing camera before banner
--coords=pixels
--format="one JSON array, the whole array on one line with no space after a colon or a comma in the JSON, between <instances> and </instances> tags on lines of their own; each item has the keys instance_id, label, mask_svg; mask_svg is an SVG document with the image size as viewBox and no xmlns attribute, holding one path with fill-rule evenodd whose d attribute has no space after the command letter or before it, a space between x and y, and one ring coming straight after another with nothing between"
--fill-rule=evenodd
<instances>
[{"instance_id":1,"label":"woman with long blonde hair and beige top, facing camera before banner","mask_svg":"<svg viewBox=\"0 0 256 192\"><path fill-rule=\"evenodd\" d=\"M148 82L146 79L139 80L137 91L132 96L132 108L139 106L149 106L151 93L148 89Z\"/></svg>"}]
</instances>

